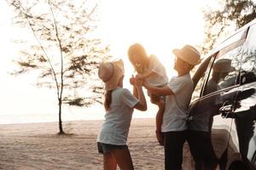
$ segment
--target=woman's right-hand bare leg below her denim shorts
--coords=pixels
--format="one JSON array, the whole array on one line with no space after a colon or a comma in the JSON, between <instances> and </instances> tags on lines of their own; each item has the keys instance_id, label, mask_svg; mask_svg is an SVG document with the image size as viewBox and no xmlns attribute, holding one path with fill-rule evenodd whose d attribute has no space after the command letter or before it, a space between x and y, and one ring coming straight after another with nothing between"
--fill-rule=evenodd
<instances>
[{"instance_id":1,"label":"woman's right-hand bare leg below her denim shorts","mask_svg":"<svg viewBox=\"0 0 256 170\"><path fill-rule=\"evenodd\" d=\"M120 170L133 170L132 160L129 149L111 150L112 156L117 161Z\"/></svg>"}]
</instances>

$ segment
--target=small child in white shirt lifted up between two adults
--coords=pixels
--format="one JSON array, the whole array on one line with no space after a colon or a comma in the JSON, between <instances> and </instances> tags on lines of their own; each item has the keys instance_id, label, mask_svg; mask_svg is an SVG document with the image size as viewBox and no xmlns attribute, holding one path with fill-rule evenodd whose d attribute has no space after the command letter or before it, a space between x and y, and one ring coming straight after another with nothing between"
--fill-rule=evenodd
<instances>
[{"instance_id":1,"label":"small child in white shirt lifted up between two adults","mask_svg":"<svg viewBox=\"0 0 256 170\"><path fill-rule=\"evenodd\" d=\"M166 69L160 63L154 55L147 55L143 46L139 43L131 45L128 49L128 56L131 61L131 64L134 66L135 71L137 71L137 78L142 79L145 82L148 82L151 86L154 87L163 87L168 82L168 77L166 76ZM131 77L131 84L133 84L134 78ZM134 89L136 93L136 89ZM165 111L165 98L160 95L154 95L148 92L150 96L151 103L158 105L159 111L156 114L156 138L160 145L163 145L163 137L160 133L160 127L162 124L162 116Z\"/></svg>"}]
</instances>

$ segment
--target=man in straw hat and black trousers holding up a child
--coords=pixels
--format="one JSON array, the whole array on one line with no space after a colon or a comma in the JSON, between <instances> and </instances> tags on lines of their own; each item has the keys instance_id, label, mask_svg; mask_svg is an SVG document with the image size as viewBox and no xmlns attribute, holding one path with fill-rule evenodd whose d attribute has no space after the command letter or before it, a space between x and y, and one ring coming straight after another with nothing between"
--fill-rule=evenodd
<instances>
[{"instance_id":1,"label":"man in straw hat and black trousers holding up a child","mask_svg":"<svg viewBox=\"0 0 256 170\"><path fill-rule=\"evenodd\" d=\"M164 137L166 170L182 169L183 144L187 138L188 107L194 90L189 72L200 63L200 53L192 46L174 49L176 55L174 69L177 77L172 77L166 86L157 88L143 82L151 94L166 95L166 107L162 116L161 131Z\"/></svg>"}]
</instances>

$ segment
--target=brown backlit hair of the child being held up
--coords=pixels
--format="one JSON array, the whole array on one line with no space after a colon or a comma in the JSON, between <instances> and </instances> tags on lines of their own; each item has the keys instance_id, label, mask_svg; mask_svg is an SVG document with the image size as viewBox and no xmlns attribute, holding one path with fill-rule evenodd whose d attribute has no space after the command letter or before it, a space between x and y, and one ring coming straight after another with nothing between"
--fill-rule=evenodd
<instances>
[{"instance_id":1,"label":"brown backlit hair of the child being held up","mask_svg":"<svg viewBox=\"0 0 256 170\"><path fill-rule=\"evenodd\" d=\"M140 65L136 65L136 63L134 63L134 55L140 58ZM128 56L131 61L131 64L133 65L137 73L143 74L143 72L148 68L149 65L148 55L143 46L140 43L132 44L128 49Z\"/></svg>"}]
</instances>

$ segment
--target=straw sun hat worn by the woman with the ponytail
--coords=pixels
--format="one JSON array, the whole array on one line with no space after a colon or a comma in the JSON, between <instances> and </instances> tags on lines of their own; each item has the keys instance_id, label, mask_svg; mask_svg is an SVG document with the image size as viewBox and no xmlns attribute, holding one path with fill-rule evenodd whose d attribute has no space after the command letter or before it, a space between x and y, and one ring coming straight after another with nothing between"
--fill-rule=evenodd
<instances>
[{"instance_id":1,"label":"straw sun hat worn by the woman with the ponytail","mask_svg":"<svg viewBox=\"0 0 256 170\"><path fill-rule=\"evenodd\" d=\"M113 90L119 85L119 80L124 76L124 63L122 59L102 63L98 70L98 77L105 82L105 90Z\"/></svg>"}]
</instances>

